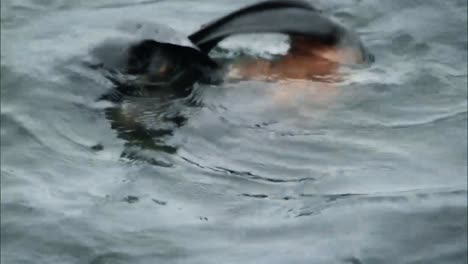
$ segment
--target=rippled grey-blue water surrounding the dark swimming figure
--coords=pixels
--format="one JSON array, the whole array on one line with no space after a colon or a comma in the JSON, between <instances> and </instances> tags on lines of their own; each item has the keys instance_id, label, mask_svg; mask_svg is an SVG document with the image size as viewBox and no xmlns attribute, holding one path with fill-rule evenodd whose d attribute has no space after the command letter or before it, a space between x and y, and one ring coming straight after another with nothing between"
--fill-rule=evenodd
<instances>
[{"instance_id":1,"label":"rippled grey-blue water surrounding the dark swimming figure","mask_svg":"<svg viewBox=\"0 0 468 264\"><path fill-rule=\"evenodd\" d=\"M143 142L96 102L111 84L82 59L117 24L188 34L251 2L2 1L2 263L467 262L466 1L314 2L377 58L333 93L129 100Z\"/></svg>"}]
</instances>

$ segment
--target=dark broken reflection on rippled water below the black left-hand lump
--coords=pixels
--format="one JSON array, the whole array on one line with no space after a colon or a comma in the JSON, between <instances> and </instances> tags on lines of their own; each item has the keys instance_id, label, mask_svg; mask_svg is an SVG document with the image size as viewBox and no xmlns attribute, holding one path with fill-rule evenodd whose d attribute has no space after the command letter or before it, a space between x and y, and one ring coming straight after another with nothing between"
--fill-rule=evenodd
<instances>
[{"instance_id":1,"label":"dark broken reflection on rippled water below the black left-hand lump","mask_svg":"<svg viewBox=\"0 0 468 264\"><path fill-rule=\"evenodd\" d=\"M141 150L161 151L175 154L177 146L166 143L174 130L187 122L184 108L190 105L190 98L162 97L122 97L118 104L105 109L106 118L117 136L125 140L125 150L121 157L131 160L142 159L154 165L170 166L157 162L154 158L142 155Z\"/></svg>"}]
</instances>

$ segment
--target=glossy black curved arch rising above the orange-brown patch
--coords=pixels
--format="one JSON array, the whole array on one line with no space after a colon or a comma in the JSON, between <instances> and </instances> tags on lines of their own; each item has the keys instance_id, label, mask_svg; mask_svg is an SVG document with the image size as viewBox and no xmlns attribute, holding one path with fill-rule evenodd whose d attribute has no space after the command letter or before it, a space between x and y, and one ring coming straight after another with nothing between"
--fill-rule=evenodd
<instances>
[{"instance_id":1,"label":"glossy black curved arch rising above the orange-brown patch","mask_svg":"<svg viewBox=\"0 0 468 264\"><path fill-rule=\"evenodd\" d=\"M224 38L242 33L297 34L335 44L345 30L307 2L274 0L247 6L217 19L189 39L208 53Z\"/></svg>"}]
</instances>

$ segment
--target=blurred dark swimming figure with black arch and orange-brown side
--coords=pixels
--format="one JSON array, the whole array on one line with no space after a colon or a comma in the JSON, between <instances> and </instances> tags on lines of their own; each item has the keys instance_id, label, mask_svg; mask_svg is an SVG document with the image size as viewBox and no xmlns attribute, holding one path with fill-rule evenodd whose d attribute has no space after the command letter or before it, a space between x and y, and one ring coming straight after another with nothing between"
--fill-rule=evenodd
<instances>
[{"instance_id":1,"label":"blurred dark swimming figure with black arch and orange-brown side","mask_svg":"<svg viewBox=\"0 0 468 264\"><path fill-rule=\"evenodd\" d=\"M104 68L111 69L107 76L123 92L140 96L167 89L183 95L194 83L219 83L230 77L314 79L334 74L342 64L374 60L355 32L301 0L253 4L209 22L187 37L155 23L129 22L120 29L129 37L105 43L94 55ZM228 65L209 56L229 36L252 33L286 34L290 49L274 60Z\"/></svg>"}]
</instances>

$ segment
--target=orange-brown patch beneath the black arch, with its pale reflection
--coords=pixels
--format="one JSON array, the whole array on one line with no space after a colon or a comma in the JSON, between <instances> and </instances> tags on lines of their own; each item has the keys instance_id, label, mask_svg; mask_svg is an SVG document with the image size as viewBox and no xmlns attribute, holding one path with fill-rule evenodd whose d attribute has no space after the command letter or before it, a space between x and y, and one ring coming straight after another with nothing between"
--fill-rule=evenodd
<instances>
[{"instance_id":1,"label":"orange-brown patch beneath the black arch, with its pale reflection","mask_svg":"<svg viewBox=\"0 0 468 264\"><path fill-rule=\"evenodd\" d=\"M306 98L314 103L329 103L337 95L339 67L347 50L313 39L292 37L288 53L276 60L258 59L232 65L230 76L241 79L270 80L278 84L273 99L290 105Z\"/></svg>"}]
</instances>

